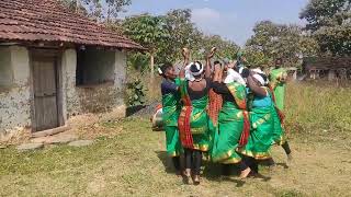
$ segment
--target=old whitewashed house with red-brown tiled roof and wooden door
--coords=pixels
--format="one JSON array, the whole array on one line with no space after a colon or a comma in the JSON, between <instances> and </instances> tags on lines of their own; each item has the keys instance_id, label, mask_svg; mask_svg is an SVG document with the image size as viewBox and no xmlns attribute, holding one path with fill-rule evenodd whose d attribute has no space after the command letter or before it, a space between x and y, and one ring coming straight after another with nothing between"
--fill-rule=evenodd
<instances>
[{"instance_id":1,"label":"old whitewashed house with red-brown tiled roof and wooden door","mask_svg":"<svg viewBox=\"0 0 351 197\"><path fill-rule=\"evenodd\" d=\"M129 49L144 48L56 0L1 0L0 134L123 112Z\"/></svg>"}]
</instances>

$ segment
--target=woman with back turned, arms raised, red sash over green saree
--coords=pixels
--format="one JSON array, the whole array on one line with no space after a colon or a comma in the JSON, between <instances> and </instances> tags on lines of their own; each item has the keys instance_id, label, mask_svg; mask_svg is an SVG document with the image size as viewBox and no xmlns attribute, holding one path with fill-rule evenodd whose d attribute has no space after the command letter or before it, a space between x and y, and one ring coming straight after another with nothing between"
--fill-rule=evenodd
<instances>
[{"instance_id":1,"label":"woman with back turned, arms raised, red sash over green saree","mask_svg":"<svg viewBox=\"0 0 351 197\"><path fill-rule=\"evenodd\" d=\"M185 171L184 182L192 177L195 185L200 184L200 167L202 153L210 150L210 118L207 114L208 91L211 88L211 65L215 49L207 56L204 67L195 61L189 65L190 53L183 49L184 67L180 71L180 93L182 108L178 120L180 139L184 149ZM185 73L186 72L186 73ZM185 79L185 74L186 78Z\"/></svg>"}]
</instances>

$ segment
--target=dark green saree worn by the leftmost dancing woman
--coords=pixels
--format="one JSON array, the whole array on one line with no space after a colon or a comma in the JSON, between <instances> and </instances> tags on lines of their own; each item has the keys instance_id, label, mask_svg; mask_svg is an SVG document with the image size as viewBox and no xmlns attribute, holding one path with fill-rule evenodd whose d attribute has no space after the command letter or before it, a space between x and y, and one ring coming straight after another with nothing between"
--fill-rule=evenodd
<instances>
[{"instance_id":1,"label":"dark green saree worn by the leftmost dancing woman","mask_svg":"<svg viewBox=\"0 0 351 197\"><path fill-rule=\"evenodd\" d=\"M176 84L179 84L179 79L177 79ZM166 131L167 154L169 157L179 157L182 150L178 130L179 101L179 94L162 95L162 119Z\"/></svg>"}]
</instances>

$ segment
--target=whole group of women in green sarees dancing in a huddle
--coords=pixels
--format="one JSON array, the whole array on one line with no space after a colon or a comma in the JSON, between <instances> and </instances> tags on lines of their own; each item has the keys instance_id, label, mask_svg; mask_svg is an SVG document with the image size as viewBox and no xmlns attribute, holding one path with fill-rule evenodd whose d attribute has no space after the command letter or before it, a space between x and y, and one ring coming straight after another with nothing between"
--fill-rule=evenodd
<instances>
[{"instance_id":1,"label":"whole group of women in green sarees dancing in a huddle","mask_svg":"<svg viewBox=\"0 0 351 197\"><path fill-rule=\"evenodd\" d=\"M162 123L167 153L186 184L199 185L203 154L211 162L238 167L240 178L259 174L260 161L270 161L272 146L292 157L283 128L286 73L276 60L265 74L237 62L190 62L182 49L183 67L177 74L171 63L161 66ZM183 163L183 165L181 165Z\"/></svg>"}]
</instances>

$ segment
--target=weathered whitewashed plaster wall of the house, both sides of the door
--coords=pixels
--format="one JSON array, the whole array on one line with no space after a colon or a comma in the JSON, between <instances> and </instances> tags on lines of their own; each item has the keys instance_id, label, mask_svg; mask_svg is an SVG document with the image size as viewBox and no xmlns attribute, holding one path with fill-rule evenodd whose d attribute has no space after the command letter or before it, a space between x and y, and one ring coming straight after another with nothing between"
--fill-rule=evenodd
<instances>
[{"instance_id":1,"label":"weathered whitewashed plaster wall of the house, both sides of the door","mask_svg":"<svg viewBox=\"0 0 351 197\"><path fill-rule=\"evenodd\" d=\"M107 113L106 117L125 116L124 84L126 78L126 56L115 51L112 65L114 82L93 86L76 86L77 54L67 49L63 54L63 109L64 119L84 113ZM11 46L0 50L7 57L1 63L9 63L12 73L11 86L0 86L0 139L3 134L24 130L32 125L31 119L31 71L30 55L25 47ZM97 65L99 68L99 65ZM113 116L112 116L113 115Z\"/></svg>"}]
</instances>

